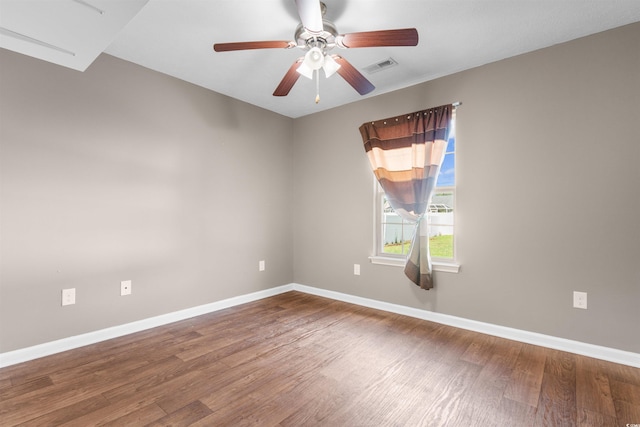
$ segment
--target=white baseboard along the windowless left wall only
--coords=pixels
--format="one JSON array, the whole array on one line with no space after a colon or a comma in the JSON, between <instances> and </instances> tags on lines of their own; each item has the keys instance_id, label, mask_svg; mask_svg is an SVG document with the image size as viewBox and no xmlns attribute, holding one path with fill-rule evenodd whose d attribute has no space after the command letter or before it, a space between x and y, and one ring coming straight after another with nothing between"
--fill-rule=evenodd
<instances>
[{"instance_id":1,"label":"white baseboard along the windowless left wall only","mask_svg":"<svg viewBox=\"0 0 640 427\"><path fill-rule=\"evenodd\" d=\"M73 350L74 348L83 347L89 344L95 344L97 342L106 341L112 338L118 338L124 335L132 334L134 332L140 332L146 329L167 325L179 320L189 319L191 317L212 313L214 311L223 310L225 308L233 307L236 305L257 301L259 299L268 298L270 296L281 294L291 290L293 290L293 285L278 286L276 288L253 292L246 295L240 295L237 297L224 299L222 301L212 302L210 304L187 308L185 310L174 311L173 313L162 314L160 316L126 323L124 325L113 326L111 328L88 332L86 334L63 338L56 341L50 341L47 343L34 345L32 347L26 347L18 350L8 351L6 353L0 353L0 368L27 362L29 360L49 356L55 353L61 353L67 350Z\"/></svg>"}]
</instances>

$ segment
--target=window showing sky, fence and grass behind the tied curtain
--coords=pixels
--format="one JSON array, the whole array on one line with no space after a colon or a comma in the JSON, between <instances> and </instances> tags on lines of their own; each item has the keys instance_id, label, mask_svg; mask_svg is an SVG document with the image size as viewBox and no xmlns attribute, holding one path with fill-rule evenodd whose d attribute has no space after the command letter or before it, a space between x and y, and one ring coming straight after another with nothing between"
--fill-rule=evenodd
<instances>
[{"instance_id":1,"label":"window showing sky, fence and grass behind the tied curtain","mask_svg":"<svg viewBox=\"0 0 640 427\"><path fill-rule=\"evenodd\" d=\"M435 270L457 272L455 265L455 115L447 142L447 150L440 167L427 221L429 222L429 250ZM375 179L374 179L375 180ZM387 202L376 182L375 256L372 262L404 265L409 253L414 226L404 221Z\"/></svg>"}]
</instances>

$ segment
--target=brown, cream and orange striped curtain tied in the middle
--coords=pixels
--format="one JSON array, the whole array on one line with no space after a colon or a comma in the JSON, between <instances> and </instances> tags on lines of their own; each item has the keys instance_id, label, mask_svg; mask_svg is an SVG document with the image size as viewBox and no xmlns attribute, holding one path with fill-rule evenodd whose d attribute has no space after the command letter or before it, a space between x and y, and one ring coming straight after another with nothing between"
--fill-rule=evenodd
<instances>
[{"instance_id":1,"label":"brown, cream and orange striped curtain tied in the middle","mask_svg":"<svg viewBox=\"0 0 640 427\"><path fill-rule=\"evenodd\" d=\"M405 274L433 287L426 214L447 147L451 104L360 126L371 168L391 207L415 223Z\"/></svg>"}]
</instances>

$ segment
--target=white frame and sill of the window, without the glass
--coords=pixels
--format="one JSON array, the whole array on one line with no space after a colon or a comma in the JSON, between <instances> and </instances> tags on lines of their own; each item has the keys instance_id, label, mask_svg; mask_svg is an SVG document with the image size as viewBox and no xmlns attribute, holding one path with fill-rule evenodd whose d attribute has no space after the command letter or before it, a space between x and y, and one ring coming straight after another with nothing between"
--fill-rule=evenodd
<instances>
[{"instance_id":1,"label":"white frame and sill of the window, without the glass","mask_svg":"<svg viewBox=\"0 0 640 427\"><path fill-rule=\"evenodd\" d=\"M455 121L454 121L455 126ZM456 140L456 147L458 145L458 141ZM457 151L457 149L456 149ZM454 153L456 152L454 151ZM456 159L456 167L457 167L457 159ZM457 262L457 235L455 229L456 224L456 186L442 186L436 187L434 189L434 194L438 192L449 192L453 193L453 224L454 232L453 232L453 259L449 258L434 258L432 257L431 263L433 269L435 271L444 271L448 273L457 273L460 270L460 264ZM380 184L373 177L373 209L374 209L374 230L373 230L373 255L369 257L373 264L381 264L381 265L389 265L396 267L404 267L407 262L406 255L395 255L384 253L382 251L383 247L383 225L382 225L382 217L383 217L383 199L384 199L384 191L380 187Z\"/></svg>"}]
</instances>

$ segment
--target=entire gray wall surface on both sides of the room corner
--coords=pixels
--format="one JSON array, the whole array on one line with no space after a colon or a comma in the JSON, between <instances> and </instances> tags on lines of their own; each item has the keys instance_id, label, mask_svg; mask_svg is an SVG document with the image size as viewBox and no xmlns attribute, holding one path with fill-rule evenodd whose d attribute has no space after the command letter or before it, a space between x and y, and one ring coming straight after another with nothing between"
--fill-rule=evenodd
<instances>
[{"instance_id":1,"label":"entire gray wall surface on both sides of the room corner","mask_svg":"<svg viewBox=\"0 0 640 427\"><path fill-rule=\"evenodd\" d=\"M292 281L640 352L638 40L635 24L296 120L107 55L78 73L0 51L0 352ZM358 126L453 101L462 268L422 291L368 262Z\"/></svg>"}]
</instances>

